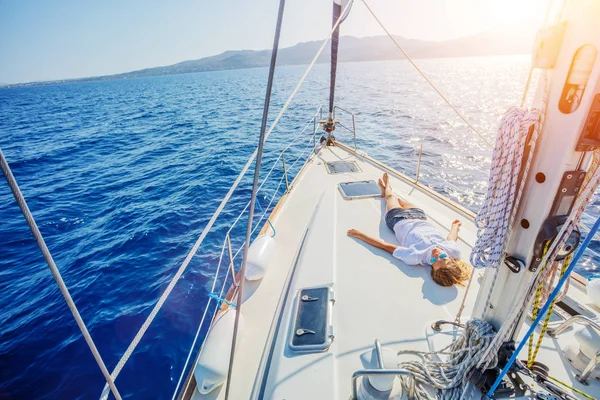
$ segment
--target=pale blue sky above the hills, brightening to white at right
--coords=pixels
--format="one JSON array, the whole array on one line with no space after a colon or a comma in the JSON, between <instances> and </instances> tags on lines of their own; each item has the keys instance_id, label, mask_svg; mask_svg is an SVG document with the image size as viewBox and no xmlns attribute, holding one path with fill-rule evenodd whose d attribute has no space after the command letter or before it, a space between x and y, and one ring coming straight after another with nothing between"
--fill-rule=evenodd
<instances>
[{"instance_id":1,"label":"pale blue sky above the hills, brightening to white at right","mask_svg":"<svg viewBox=\"0 0 600 400\"><path fill-rule=\"evenodd\" d=\"M548 0L367 0L388 29L447 40L541 25ZM279 0L0 0L0 83L108 75L267 49ZM321 40L331 0L286 0L281 47ZM356 0L341 35L384 34Z\"/></svg>"}]
</instances>

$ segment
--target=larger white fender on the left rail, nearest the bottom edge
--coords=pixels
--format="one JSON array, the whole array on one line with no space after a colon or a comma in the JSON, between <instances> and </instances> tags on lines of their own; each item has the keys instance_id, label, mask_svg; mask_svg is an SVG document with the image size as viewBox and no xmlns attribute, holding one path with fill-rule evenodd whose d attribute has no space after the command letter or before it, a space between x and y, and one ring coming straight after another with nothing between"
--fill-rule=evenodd
<instances>
[{"instance_id":1,"label":"larger white fender on the left rail, nearest the bottom edge","mask_svg":"<svg viewBox=\"0 0 600 400\"><path fill-rule=\"evenodd\" d=\"M208 394L221 386L227 379L231 341L235 324L235 310L229 308L217 317L208 331L198 363L194 369L196 386L201 394ZM243 332L244 318L240 314L238 338ZM239 340L238 342L239 343Z\"/></svg>"}]
</instances>

